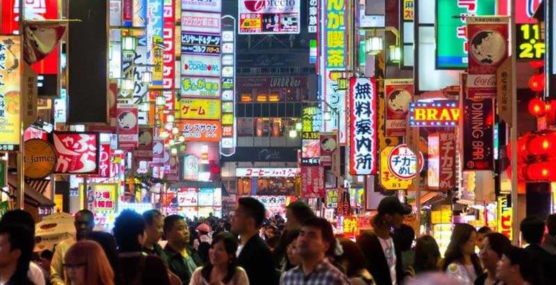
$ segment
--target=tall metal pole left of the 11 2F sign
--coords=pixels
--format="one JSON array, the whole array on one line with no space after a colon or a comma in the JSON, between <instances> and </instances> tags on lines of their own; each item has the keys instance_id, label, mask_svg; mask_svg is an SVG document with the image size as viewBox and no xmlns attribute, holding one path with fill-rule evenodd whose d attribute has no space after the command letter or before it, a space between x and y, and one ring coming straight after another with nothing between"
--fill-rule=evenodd
<instances>
[{"instance_id":1,"label":"tall metal pole left of the 11 2F sign","mask_svg":"<svg viewBox=\"0 0 556 285\"><path fill-rule=\"evenodd\" d=\"M544 3L543 3L544 5ZM512 243L519 245L519 219L517 195L517 98L516 98L516 0L510 0L511 9L509 29L512 32L512 128L510 128L510 143L512 144ZM546 30L548 31L548 30Z\"/></svg>"}]
</instances>

